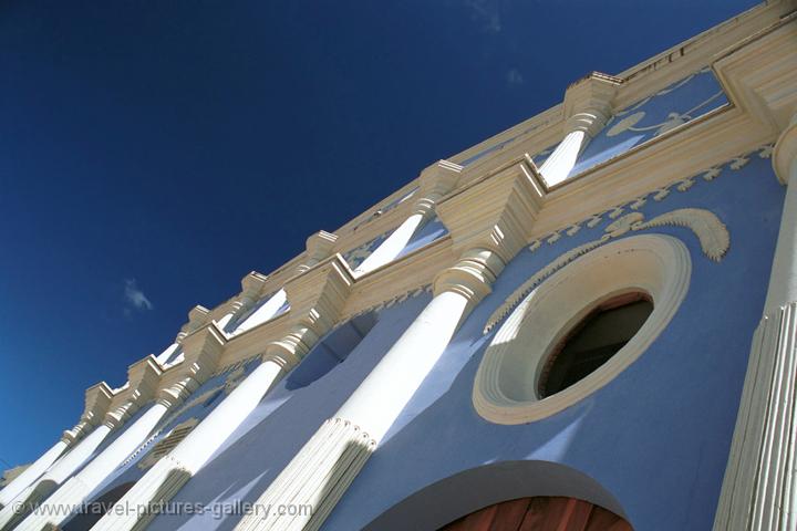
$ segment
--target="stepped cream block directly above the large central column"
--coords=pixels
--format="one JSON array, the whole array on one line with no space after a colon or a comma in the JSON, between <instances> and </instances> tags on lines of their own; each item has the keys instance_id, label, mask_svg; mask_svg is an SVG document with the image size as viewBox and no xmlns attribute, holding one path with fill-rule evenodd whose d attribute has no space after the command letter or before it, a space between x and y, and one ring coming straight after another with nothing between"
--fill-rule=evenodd
<instances>
[{"instance_id":1,"label":"stepped cream block directly above the large central column","mask_svg":"<svg viewBox=\"0 0 797 531\"><path fill-rule=\"evenodd\" d=\"M437 205L455 251L495 252L504 263L526 244L545 201L545 187L524 157L474 181Z\"/></svg>"}]
</instances>

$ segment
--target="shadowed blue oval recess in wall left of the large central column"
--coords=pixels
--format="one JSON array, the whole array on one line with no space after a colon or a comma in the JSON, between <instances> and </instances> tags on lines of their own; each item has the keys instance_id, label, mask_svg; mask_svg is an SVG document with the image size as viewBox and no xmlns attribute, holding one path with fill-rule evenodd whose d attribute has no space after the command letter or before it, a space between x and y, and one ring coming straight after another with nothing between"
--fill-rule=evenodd
<instances>
[{"instance_id":1,"label":"shadowed blue oval recess in wall left of the large central column","mask_svg":"<svg viewBox=\"0 0 797 531\"><path fill-rule=\"evenodd\" d=\"M288 391L306 387L343 363L376 324L375 311L358 315L328 333L286 378Z\"/></svg>"}]
</instances>

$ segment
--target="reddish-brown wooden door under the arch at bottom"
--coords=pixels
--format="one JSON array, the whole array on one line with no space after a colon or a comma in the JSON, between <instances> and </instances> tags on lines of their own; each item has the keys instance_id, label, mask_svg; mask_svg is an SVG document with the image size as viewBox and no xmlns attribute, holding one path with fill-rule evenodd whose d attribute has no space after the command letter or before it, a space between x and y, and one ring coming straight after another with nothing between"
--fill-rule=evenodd
<instances>
[{"instance_id":1,"label":"reddish-brown wooden door under the arch at bottom","mask_svg":"<svg viewBox=\"0 0 797 531\"><path fill-rule=\"evenodd\" d=\"M589 501L535 497L503 501L472 512L439 531L632 531L613 512Z\"/></svg>"}]
</instances>

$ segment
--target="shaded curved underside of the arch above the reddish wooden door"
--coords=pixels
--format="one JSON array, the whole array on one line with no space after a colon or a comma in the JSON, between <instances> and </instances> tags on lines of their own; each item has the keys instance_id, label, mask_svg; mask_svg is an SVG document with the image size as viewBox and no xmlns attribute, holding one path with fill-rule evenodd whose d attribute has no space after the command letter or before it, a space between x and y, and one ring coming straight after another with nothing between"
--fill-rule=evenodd
<instances>
[{"instance_id":1,"label":"shaded curved underside of the arch above the reddish wooden door","mask_svg":"<svg viewBox=\"0 0 797 531\"><path fill-rule=\"evenodd\" d=\"M383 512L364 531L439 529L488 506L536 497L575 498L625 518L619 501L578 470L549 461L501 461L429 485Z\"/></svg>"}]
</instances>

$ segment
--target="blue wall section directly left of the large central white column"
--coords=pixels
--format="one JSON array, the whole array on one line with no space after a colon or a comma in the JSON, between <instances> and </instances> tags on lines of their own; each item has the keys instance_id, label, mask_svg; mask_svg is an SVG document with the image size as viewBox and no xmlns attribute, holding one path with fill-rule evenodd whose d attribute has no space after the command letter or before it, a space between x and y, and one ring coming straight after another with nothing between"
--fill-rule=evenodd
<instances>
[{"instance_id":1,"label":"blue wall section directly left of the large central white column","mask_svg":"<svg viewBox=\"0 0 797 531\"><path fill-rule=\"evenodd\" d=\"M345 360L308 385L298 385L306 378L288 375L174 501L209 504L257 500L318 427L345 402L429 299L424 292L381 310L376 324ZM312 365L318 354L323 352L311 351L306 362ZM343 357L340 353L338 356ZM308 368L302 365L294 371ZM232 529L238 520L238 517L219 519L211 513L163 514L149 529Z\"/></svg>"}]
</instances>

